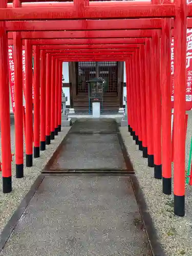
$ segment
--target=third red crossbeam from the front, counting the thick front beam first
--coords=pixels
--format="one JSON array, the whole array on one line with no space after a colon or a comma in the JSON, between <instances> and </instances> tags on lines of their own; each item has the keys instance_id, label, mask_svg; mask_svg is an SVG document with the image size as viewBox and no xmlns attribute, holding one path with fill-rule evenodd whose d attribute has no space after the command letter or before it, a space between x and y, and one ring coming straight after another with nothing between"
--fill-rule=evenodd
<instances>
[{"instance_id":1,"label":"third red crossbeam from the front, counting the thick front beam first","mask_svg":"<svg viewBox=\"0 0 192 256\"><path fill-rule=\"evenodd\" d=\"M158 30L106 30L106 31L25 31L21 32L22 38L115 38L115 37L151 37ZM8 38L13 38L13 33L8 33Z\"/></svg>"}]
</instances>

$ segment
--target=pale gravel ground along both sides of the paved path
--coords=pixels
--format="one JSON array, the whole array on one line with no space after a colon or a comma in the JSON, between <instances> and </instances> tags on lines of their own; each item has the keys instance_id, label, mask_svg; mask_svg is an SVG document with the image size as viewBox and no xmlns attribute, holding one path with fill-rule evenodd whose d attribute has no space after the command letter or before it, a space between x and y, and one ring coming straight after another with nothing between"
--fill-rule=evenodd
<instances>
[{"instance_id":1,"label":"pale gravel ground along both sides of the paved path","mask_svg":"<svg viewBox=\"0 0 192 256\"><path fill-rule=\"evenodd\" d=\"M62 132L56 137L51 145L47 146L45 152L41 152L38 159L34 159L33 167L25 167L25 177L16 179L15 162L13 158L13 191L10 194L2 193L0 186L0 231L6 225L12 216L14 210L18 207L20 201L27 194L41 169L56 150L61 140L66 136L70 127L62 127ZM186 255L192 256L192 187L186 186L186 215L185 217L176 217L173 214L173 195L166 196L162 194L162 182L153 178L154 168L147 167L147 160L142 158L142 153L135 145L127 127L120 127L124 143L135 168L136 176L148 205L148 209L153 218L160 241L165 250L166 256ZM186 138L186 168L188 165L188 154L190 150L190 139L192 136L192 113L188 112L188 126ZM11 146L14 153L14 125L11 126ZM25 161L25 159L24 159Z\"/></svg>"}]
</instances>

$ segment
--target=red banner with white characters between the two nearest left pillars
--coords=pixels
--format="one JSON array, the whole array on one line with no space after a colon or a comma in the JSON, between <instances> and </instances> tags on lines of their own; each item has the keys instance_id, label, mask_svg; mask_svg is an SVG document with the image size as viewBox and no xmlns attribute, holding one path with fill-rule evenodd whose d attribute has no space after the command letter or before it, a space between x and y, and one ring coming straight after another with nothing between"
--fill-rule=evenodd
<instances>
[{"instance_id":1,"label":"red banner with white characters between the two nearest left pillars","mask_svg":"<svg viewBox=\"0 0 192 256\"><path fill-rule=\"evenodd\" d=\"M11 91L11 102L13 113L15 112L15 93L14 93L14 85L15 85L15 73L14 73L14 60L13 60L13 47L8 46L8 56L9 56L9 84Z\"/></svg>"}]
</instances>

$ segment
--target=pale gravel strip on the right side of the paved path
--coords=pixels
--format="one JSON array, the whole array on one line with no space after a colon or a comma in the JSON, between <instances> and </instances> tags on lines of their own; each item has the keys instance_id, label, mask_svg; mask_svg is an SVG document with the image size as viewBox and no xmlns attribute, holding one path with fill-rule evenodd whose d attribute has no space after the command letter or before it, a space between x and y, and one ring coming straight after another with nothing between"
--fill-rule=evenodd
<instances>
[{"instance_id":1,"label":"pale gravel strip on the right side of the paved path","mask_svg":"<svg viewBox=\"0 0 192 256\"><path fill-rule=\"evenodd\" d=\"M192 186L186 186L185 217L174 215L173 195L162 193L162 181L154 179L154 168L147 166L147 159L135 145L127 127L120 127L120 132L134 165L136 176L152 216L155 228L165 250L166 256L192 255ZM186 168L192 135L192 113L188 112L186 137Z\"/></svg>"}]
</instances>

